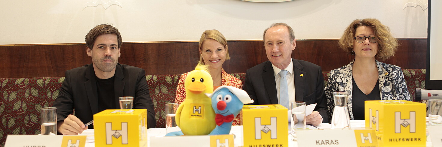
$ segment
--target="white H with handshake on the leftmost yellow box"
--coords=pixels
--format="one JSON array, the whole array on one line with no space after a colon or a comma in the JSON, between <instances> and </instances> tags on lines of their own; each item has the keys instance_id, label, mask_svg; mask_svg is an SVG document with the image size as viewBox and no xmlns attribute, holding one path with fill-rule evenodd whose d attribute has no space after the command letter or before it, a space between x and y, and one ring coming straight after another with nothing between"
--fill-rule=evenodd
<instances>
[{"instance_id":1,"label":"white H with handshake on the leftmost yellow box","mask_svg":"<svg viewBox=\"0 0 442 147\"><path fill-rule=\"evenodd\" d=\"M122 137L121 143L127 144L129 142L127 133L127 122L121 123L121 130L113 130L112 123L106 123L106 144L112 144L112 137L115 137L116 139Z\"/></svg>"}]
</instances>

